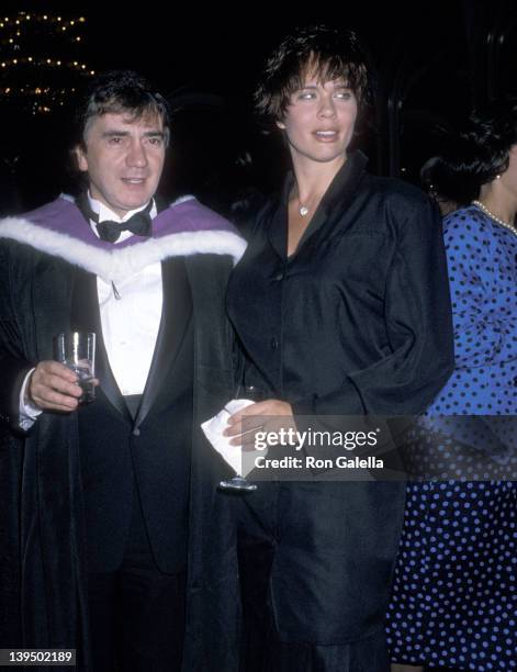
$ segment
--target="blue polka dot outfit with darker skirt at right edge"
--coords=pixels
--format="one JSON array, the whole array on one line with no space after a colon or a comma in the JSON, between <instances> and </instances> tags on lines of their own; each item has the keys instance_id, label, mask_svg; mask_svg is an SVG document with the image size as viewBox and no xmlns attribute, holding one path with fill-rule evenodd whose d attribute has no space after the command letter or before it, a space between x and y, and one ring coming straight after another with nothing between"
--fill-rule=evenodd
<instances>
[{"instance_id":1,"label":"blue polka dot outfit with darker skirt at right edge","mask_svg":"<svg viewBox=\"0 0 517 672\"><path fill-rule=\"evenodd\" d=\"M517 418L501 416L517 415L517 235L475 205L443 227L457 366L426 415L499 416L515 460ZM393 662L517 670L516 518L513 481L408 485L387 614Z\"/></svg>"}]
</instances>

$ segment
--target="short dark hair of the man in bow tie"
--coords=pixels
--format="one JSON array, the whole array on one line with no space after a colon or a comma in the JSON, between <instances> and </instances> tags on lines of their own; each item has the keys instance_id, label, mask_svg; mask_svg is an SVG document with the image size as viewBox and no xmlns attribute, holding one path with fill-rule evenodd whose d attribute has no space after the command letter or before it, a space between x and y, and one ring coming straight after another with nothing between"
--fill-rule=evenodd
<instances>
[{"instance_id":1,"label":"short dark hair of the man in bow tie","mask_svg":"<svg viewBox=\"0 0 517 672\"><path fill-rule=\"evenodd\" d=\"M135 121L158 116L169 136L169 110L166 99L150 82L133 70L109 70L91 81L76 110L76 142L83 143L89 123L102 114L128 112Z\"/></svg>"}]
</instances>

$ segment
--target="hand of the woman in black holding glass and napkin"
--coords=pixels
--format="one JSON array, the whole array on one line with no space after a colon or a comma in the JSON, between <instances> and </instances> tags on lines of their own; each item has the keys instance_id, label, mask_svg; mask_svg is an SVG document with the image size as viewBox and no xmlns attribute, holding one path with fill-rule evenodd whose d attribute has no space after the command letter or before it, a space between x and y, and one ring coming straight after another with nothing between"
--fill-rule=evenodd
<instances>
[{"instance_id":1,"label":"hand of the woman in black holding glass and napkin","mask_svg":"<svg viewBox=\"0 0 517 672\"><path fill-rule=\"evenodd\" d=\"M243 422L245 423L244 430ZM245 450L255 450L257 432L278 433L280 429L285 429L285 432L296 429L292 406L279 399L268 399L234 413L228 418L228 427L224 430L224 435L234 437L229 441L232 446L243 446Z\"/></svg>"}]
</instances>

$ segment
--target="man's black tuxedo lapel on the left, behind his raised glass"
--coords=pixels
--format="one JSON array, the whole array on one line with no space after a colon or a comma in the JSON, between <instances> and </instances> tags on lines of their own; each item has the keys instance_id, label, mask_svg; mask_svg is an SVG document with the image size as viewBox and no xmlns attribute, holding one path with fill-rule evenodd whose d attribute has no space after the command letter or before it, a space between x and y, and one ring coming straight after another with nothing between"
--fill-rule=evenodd
<instances>
[{"instance_id":1,"label":"man's black tuxedo lapel on the left, behind his raised glass","mask_svg":"<svg viewBox=\"0 0 517 672\"><path fill-rule=\"evenodd\" d=\"M102 338L97 276L79 268L76 271L71 296L70 327L76 332L94 332L97 334L95 378L99 379L100 389L109 402L132 423L130 411L111 370L104 339Z\"/></svg>"}]
</instances>

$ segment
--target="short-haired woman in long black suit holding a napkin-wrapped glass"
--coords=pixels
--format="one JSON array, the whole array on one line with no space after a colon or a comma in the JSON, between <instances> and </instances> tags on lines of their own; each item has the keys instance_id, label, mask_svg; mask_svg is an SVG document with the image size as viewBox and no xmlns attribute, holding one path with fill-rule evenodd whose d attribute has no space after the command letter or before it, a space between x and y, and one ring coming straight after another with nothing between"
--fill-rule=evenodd
<instances>
[{"instance_id":1,"label":"short-haired woman in long black suit holding a napkin-wrapped glass","mask_svg":"<svg viewBox=\"0 0 517 672\"><path fill-rule=\"evenodd\" d=\"M299 30L267 64L257 107L283 134L293 171L229 281L245 384L266 391L231 418L231 435L244 417L301 430L316 416L417 414L451 373L439 216L349 149L369 97L351 32ZM384 672L404 484L310 478L260 483L241 500L241 667Z\"/></svg>"}]
</instances>

